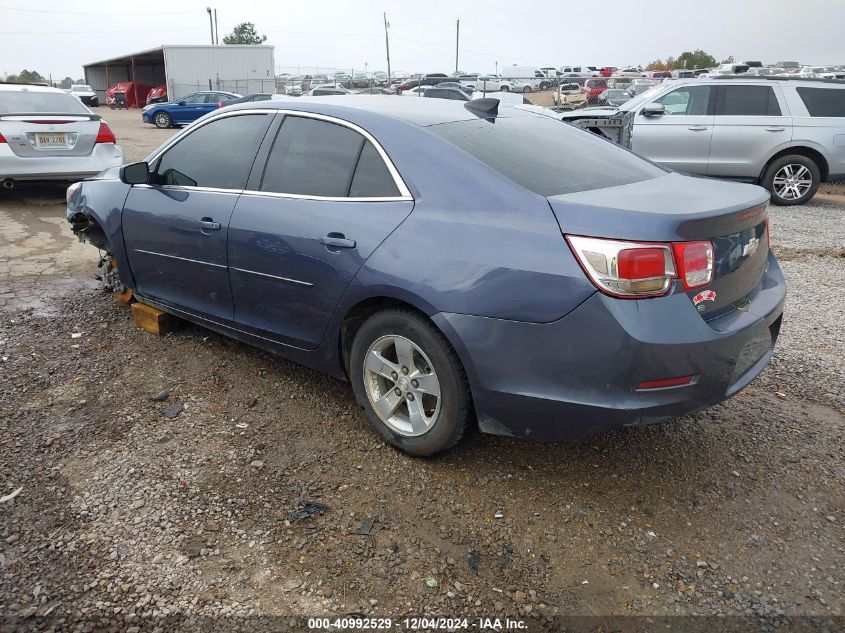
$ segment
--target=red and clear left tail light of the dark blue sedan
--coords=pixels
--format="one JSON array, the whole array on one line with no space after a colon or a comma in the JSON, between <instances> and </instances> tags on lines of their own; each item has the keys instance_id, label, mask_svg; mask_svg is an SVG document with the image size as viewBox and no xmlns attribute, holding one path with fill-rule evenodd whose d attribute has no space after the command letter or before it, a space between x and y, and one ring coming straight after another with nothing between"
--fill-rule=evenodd
<instances>
[{"instance_id":1,"label":"red and clear left tail light of the dark blue sedan","mask_svg":"<svg viewBox=\"0 0 845 633\"><path fill-rule=\"evenodd\" d=\"M680 278L687 290L713 280L710 242L654 243L565 237L590 281L612 297L659 297L669 291L675 278Z\"/></svg>"}]
</instances>

